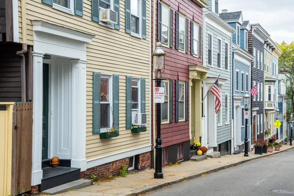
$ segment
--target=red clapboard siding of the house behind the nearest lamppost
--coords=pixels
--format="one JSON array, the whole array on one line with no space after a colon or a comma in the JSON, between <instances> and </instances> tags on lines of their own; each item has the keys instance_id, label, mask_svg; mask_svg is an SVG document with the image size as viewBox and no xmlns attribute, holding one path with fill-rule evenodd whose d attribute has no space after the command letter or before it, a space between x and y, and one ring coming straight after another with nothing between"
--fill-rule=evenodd
<instances>
[{"instance_id":1,"label":"red clapboard siding of the house behind the nearest lamppost","mask_svg":"<svg viewBox=\"0 0 294 196\"><path fill-rule=\"evenodd\" d=\"M154 1L151 1L152 5L154 5ZM175 80L180 81L189 81L189 65L200 65L202 66L202 58L197 58L196 56L191 55L191 20L198 23L202 26L202 8L197 5L193 0L164 0L164 3L168 4L173 10L173 47L163 47L165 55L165 71L162 74L162 78L168 78L173 80L173 102L172 102L172 123L162 124L161 125L161 138L163 140L162 146L168 147L174 144L179 144L182 142L190 141L189 135L189 121L184 122L175 122ZM152 21L154 25L152 25L152 48L153 51L153 42L157 41L157 10L158 10L158 1L155 1L155 7L152 9ZM155 11L155 15L153 12ZM184 15L186 15L189 20L189 30L188 30L188 53L183 53L175 49L175 11L178 11ZM153 18L155 16L155 18ZM155 29L153 29L153 27ZM155 84L156 85L156 84ZM153 89L153 83L152 87ZM151 100L152 100L151 95ZM188 101L189 103L189 101ZM153 101L151 101L152 105L155 105ZM188 110L189 110L188 105ZM156 106L155 106L155 121L157 118L156 115ZM153 115L153 107L151 108L151 114ZM190 115L190 114L189 114ZM153 117L151 118L151 124L153 124ZM156 122L154 123L156 127ZM153 127L152 129L153 130ZM153 131L151 132L153 137ZM152 141L153 144L153 141ZM154 146L154 144L153 144ZM184 152L185 153L185 152ZM188 152L189 153L189 152Z\"/></svg>"}]
</instances>

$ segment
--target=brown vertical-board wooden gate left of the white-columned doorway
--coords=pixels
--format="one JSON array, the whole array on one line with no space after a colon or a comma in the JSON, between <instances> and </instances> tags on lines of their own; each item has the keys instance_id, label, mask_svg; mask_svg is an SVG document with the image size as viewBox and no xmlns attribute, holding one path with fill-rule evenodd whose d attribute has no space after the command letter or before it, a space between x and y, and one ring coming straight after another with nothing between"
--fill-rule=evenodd
<instances>
[{"instance_id":1,"label":"brown vertical-board wooden gate left of the white-columned doorway","mask_svg":"<svg viewBox=\"0 0 294 196\"><path fill-rule=\"evenodd\" d=\"M33 103L13 108L11 195L31 190Z\"/></svg>"}]
</instances>

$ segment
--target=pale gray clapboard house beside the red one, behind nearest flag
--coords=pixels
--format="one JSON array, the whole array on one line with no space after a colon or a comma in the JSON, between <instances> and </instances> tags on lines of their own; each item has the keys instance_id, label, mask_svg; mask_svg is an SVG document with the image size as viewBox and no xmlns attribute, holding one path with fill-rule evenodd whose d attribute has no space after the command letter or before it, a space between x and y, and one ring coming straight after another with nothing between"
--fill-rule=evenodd
<instances>
[{"instance_id":1,"label":"pale gray clapboard house beside the red one, behind nearest flag","mask_svg":"<svg viewBox=\"0 0 294 196\"><path fill-rule=\"evenodd\" d=\"M232 139L232 34L235 29L219 17L218 0L208 0L210 6L203 8L203 66L209 68L203 80L203 124L201 144L209 148L208 153L220 151L231 154ZM210 87L219 77L221 110L215 114L215 96Z\"/></svg>"}]
</instances>

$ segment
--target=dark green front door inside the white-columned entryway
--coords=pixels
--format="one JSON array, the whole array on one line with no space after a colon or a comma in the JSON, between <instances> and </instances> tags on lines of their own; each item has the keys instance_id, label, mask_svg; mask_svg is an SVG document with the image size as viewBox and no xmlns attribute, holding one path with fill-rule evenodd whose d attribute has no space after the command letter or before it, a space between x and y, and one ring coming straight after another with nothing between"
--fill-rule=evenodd
<instances>
[{"instance_id":1,"label":"dark green front door inside the white-columned entryway","mask_svg":"<svg viewBox=\"0 0 294 196\"><path fill-rule=\"evenodd\" d=\"M43 64L42 159L48 158L49 65Z\"/></svg>"}]
</instances>

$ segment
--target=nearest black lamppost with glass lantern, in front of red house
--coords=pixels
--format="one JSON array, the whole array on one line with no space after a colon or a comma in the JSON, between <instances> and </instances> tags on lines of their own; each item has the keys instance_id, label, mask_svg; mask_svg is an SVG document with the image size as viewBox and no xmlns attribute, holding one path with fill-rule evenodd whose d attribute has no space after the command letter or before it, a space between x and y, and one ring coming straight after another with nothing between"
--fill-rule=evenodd
<instances>
[{"instance_id":1,"label":"nearest black lamppost with glass lantern, in front of red house","mask_svg":"<svg viewBox=\"0 0 294 196\"><path fill-rule=\"evenodd\" d=\"M153 72L156 73L156 87L161 86L161 81L164 79L161 79L161 73L164 72L165 70L165 63L164 63L164 56L165 53L163 49L161 49L162 44L158 41L155 44L155 49L152 53L153 56ZM153 95L153 100L154 95ZM161 125L161 103L156 103L156 123L157 123L157 137L155 139L156 146L155 146L155 173L154 173L154 178L163 178L163 172L162 172L162 139L161 137L161 130L160 130L160 125Z\"/></svg>"}]
</instances>

